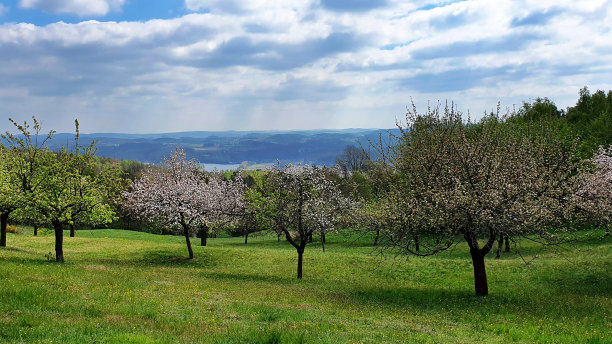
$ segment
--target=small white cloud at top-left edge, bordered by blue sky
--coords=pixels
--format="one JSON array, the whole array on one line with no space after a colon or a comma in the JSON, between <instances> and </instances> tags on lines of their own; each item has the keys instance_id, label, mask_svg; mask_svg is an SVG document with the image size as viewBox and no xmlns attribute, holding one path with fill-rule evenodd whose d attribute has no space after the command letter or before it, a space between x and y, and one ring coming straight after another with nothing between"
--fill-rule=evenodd
<instances>
[{"instance_id":1,"label":"small white cloud at top-left edge, bordered by blue sky","mask_svg":"<svg viewBox=\"0 0 612 344\"><path fill-rule=\"evenodd\" d=\"M70 13L80 17L105 16L121 9L125 0L19 0L19 6L52 13Z\"/></svg>"}]
</instances>

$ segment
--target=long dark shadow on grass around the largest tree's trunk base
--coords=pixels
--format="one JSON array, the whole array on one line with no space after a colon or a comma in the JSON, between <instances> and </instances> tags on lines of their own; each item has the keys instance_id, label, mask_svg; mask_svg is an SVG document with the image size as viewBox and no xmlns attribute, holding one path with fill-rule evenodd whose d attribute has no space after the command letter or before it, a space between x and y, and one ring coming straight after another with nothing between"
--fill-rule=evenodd
<instances>
[{"instance_id":1,"label":"long dark shadow on grass around the largest tree's trunk base","mask_svg":"<svg viewBox=\"0 0 612 344\"><path fill-rule=\"evenodd\" d=\"M583 303L591 296L612 295L612 277L604 273L576 275L574 271L558 271L554 277L529 284L527 290L507 289L500 285L489 285L490 294L478 297L471 286L465 288L355 286L346 293L326 295L342 299L349 295L355 303L366 307L391 307L411 309L417 312L458 312L458 314L519 313L533 317L574 316L574 312L590 314L592 304ZM565 276L565 277L563 277ZM543 285L544 284L544 285ZM544 295L538 290L544 290ZM571 307L564 308L563 304Z\"/></svg>"}]
</instances>

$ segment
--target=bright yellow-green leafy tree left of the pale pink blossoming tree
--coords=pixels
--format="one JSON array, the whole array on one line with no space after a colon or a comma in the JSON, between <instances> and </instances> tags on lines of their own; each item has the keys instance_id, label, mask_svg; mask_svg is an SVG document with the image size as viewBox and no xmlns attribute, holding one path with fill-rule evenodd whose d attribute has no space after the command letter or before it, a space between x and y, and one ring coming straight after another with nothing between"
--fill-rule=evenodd
<instances>
[{"instance_id":1,"label":"bright yellow-green leafy tree left of the pale pink blossoming tree","mask_svg":"<svg viewBox=\"0 0 612 344\"><path fill-rule=\"evenodd\" d=\"M92 143L81 151L78 121L75 121L75 151L63 148L61 152L52 152L45 148L45 143L54 132L39 140L41 125L36 118L32 119L33 133L27 122L21 125L11 119L20 135L7 132L3 138L16 157L12 173L24 200L24 213L51 224L55 232L55 259L63 263L63 227L77 216L92 224L110 222L113 212L104 203L99 180L84 173L93 168L95 147Z\"/></svg>"}]
</instances>

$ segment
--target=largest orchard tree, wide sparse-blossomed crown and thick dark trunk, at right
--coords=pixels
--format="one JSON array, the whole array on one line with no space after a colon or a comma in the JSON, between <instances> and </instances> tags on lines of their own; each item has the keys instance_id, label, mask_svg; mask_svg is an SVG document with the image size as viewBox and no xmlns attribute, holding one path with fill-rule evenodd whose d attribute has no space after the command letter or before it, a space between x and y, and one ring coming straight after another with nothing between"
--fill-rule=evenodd
<instances>
[{"instance_id":1,"label":"largest orchard tree, wide sparse-blossomed crown and thick dark trunk, at right","mask_svg":"<svg viewBox=\"0 0 612 344\"><path fill-rule=\"evenodd\" d=\"M389 197L403 210L384 231L387 244L427 256L465 240L479 296L500 235L558 243L573 209L574 146L506 119L498 110L464 122L452 105L425 114L413 106L392 149L399 180Z\"/></svg>"}]
</instances>

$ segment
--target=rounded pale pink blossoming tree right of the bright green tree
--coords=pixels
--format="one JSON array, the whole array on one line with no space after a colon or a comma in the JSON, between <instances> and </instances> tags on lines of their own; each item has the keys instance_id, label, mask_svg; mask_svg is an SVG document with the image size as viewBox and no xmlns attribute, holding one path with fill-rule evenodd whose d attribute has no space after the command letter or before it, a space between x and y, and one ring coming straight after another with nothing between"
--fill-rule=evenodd
<instances>
[{"instance_id":1,"label":"rounded pale pink blossoming tree right of the bright green tree","mask_svg":"<svg viewBox=\"0 0 612 344\"><path fill-rule=\"evenodd\" d=\"M162 168L143 172L131 190L122 195L124 206L141 218L180 226L189 259L193 259L190 237L198 230L207 233L210 223L237 212L243 189L240 178L226 180L218 174L205 175L194 160L186 160L185 152L177 148L164 159Z\"/></svg>"}]
</instances>

